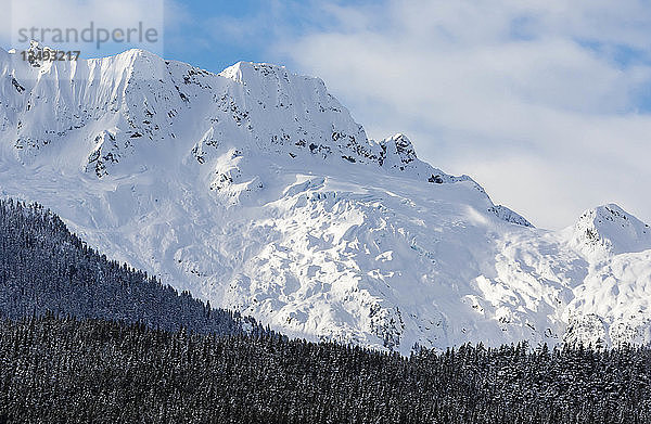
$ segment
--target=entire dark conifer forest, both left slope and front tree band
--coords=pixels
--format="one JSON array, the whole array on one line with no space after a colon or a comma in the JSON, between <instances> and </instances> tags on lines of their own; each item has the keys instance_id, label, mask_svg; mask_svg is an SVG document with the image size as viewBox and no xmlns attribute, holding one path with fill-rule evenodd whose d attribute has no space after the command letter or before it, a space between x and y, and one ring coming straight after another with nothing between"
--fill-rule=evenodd
<instances>
[{"instance_id":1,"label":"entire dark conifer forest, both left slope and front tree band","mask_svg":"<svg viewBox=\"0 0 651 424\"><path fill-rule=\"evenodd\" d=\"M0 423L651 423L649 348L404 358L289 341L11 201L0 201Z\"/></svg>"}]
</instances>

